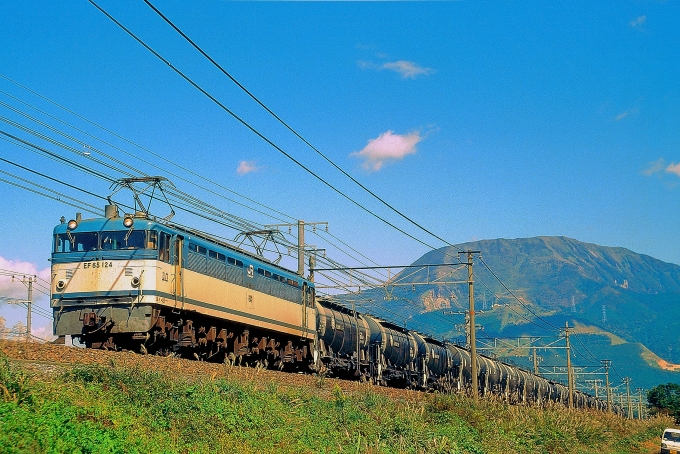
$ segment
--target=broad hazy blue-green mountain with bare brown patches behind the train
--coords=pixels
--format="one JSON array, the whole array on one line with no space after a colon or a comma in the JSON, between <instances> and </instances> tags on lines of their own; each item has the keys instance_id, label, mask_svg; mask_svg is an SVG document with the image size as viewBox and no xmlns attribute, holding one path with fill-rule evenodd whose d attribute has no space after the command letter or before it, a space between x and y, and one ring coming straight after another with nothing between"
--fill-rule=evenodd
<instances>
[{"instance_id":1,"label":"broad hazy blue-green mountain with bare brown patches behind the train","mask_svg":"<svg viewBox=\"0 0 680 454\"><path fill-rule=\"evenodd\" d=\"M460 338L455 325L468 309L467 267L453 265L467 260L460 250L481 251L473 270L482 344L485 337L559 336L568 322L577 327L573 351L583 363L611 359L620 378L630 376L637 387L680 380L680 372L662 368L680 364L680 266L625 248L565 237L445 247L413 263L431 266L406 268L385 289L364 292L371 302L359 309L435 337ZM505 353L522 354L515 362L527 363L528 351Z\"/></svg>"}]
</instances>

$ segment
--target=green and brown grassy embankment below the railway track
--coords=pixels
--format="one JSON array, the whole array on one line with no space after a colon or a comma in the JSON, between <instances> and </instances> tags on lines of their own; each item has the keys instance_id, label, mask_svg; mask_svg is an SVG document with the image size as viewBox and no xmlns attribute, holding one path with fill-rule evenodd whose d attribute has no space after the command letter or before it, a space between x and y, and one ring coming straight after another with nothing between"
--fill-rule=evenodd
<instances>
[{"instance_id":1,"label":"green and brown grassy embankment below the railway track","mask_svg":"<svg viewBox=\"0 0 680 454\"><path fill-rule=\"evenodd\" d=\"M628 454L658 452L673 423L310 383L114 363L39 373L0 353L0 452Z\"/></svg>"}]
</instances>

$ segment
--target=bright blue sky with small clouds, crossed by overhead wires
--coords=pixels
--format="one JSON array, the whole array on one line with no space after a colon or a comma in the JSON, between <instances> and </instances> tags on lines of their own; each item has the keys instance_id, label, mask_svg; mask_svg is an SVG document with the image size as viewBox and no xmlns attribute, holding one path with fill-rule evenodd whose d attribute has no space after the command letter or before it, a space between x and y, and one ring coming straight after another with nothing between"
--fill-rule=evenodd
<instances>
[{"instance_id":1,"label":"bright blue sky with small clouds, crossed by overhead wires","mask_svg":"<svg viewBox=\"0 0 680 454\"><path fill-rule=\"evenodd\" d=\"M332 168L144 2L98 3L320 178L428 245L444 245ZM680 263L677 2L154 5L314 147L447 242L564 235ZM77 126L59 124L80 139L78 150L83 142L97 150L69 155L78 162L90 165L105 150L234 215L280 223L133 156L163 169L177 163L286 219L327 221L333 235L383 265L411 263L428 250L310 176L87 1L3 2L0 40L0 101ZM35 126L5 105L0 115ZM7 121L0 127L57 149ZM107 182L16 143L0 141L0 157L110 193ZM0 171L103 205L5 162ZM81 210L2 181L0 191L0 210L12 220L0 239L0 268L48 278L51 229ZM184 213L176 220L220 233ZM308 241L334 253L322 237ZM23 294L15 287L2 285ZM6 318L10 310L0 307Z\"/></svg>"}]
</instances>

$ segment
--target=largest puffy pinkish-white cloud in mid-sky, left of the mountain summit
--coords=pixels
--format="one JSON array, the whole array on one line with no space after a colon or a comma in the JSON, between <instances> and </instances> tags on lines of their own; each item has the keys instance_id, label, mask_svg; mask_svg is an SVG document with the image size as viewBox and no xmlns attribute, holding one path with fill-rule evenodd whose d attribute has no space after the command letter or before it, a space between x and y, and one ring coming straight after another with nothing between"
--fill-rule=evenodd
<instances>
[{"instance_id":1,"label":"largest puffy pinkish-white cloud in mid-sky, left of the mountain summit","mask_svg":"<svg viewBox=\"0 0 680 454\"><path fill-rule=\"evenodd\" d=\"M387 162L398 161L409 154L415 154L416 145L421 140L423 137L419 132L402 136L387 131L369 140L363 150L351 153L350 156L360 156L364 159L362 164L364 169L377 172Z\"/></svg>"}]
</instances>

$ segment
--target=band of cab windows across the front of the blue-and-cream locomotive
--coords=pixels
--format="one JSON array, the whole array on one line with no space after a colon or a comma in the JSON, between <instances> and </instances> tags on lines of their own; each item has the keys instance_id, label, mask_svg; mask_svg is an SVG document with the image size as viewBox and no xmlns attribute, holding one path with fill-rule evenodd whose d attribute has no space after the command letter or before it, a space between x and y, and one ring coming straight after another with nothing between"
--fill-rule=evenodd
<instances>
[{"instance_id":1,"label":"band of cab windows across the front of the blue-and-cream locomotive","mask_svg":"<svg viewBox=\"0 0 680 454\"><path fill-rule=\"evenodd\" d=\"M70 232L55 235L54 252L87 252L118 249L156 249L158 233L153 230Z\"/></svg>"}]
</instances>

